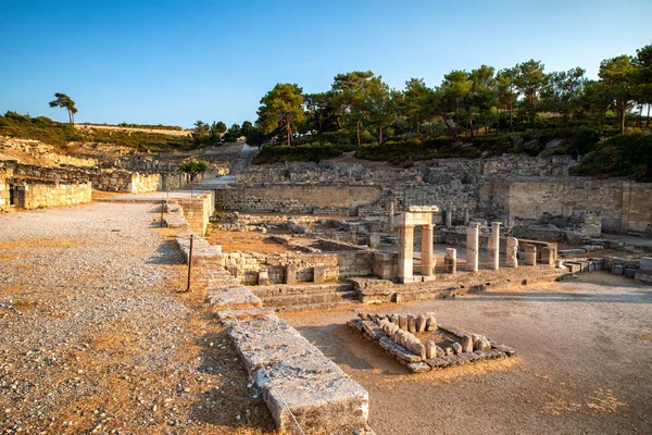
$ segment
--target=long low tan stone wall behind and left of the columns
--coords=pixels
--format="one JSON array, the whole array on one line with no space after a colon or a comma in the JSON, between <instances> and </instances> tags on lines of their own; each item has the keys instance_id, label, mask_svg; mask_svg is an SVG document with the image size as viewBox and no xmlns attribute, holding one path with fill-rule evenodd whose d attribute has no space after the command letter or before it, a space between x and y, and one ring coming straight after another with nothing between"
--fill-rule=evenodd
<instances>
[{"instance_id":1,"label":"long low tan stone wall behind and left of the columns","mask_svg":"<svg viewBox=\"0 0 652 435\"><path fill-rule=\"evenodd\" d=\"M360 185L267 184L216 189L217 210L347 215L353 201L377 201L381 188Z\"/></svg>"}]
</instances>

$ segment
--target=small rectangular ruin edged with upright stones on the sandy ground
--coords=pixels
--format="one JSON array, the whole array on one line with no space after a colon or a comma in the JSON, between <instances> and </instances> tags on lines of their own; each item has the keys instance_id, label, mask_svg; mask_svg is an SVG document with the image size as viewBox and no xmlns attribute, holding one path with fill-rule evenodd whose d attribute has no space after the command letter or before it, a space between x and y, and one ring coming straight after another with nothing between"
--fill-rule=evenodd
<instances>
[{"instance_id":1,"label":"small rectangular ruin edged with upright stones on the sandy ground","mask_svg":"<svg viewBox=\"0 0 652 435\"><path fill-rule=\"evenodd\" d=\"M511 358L515 350L472 334L437 323L434 313L361 314L348 325L378 344L412 373L441 370L478 361ZM421 338L419 338L421 337Z\"/></svg>"}]
</instances>

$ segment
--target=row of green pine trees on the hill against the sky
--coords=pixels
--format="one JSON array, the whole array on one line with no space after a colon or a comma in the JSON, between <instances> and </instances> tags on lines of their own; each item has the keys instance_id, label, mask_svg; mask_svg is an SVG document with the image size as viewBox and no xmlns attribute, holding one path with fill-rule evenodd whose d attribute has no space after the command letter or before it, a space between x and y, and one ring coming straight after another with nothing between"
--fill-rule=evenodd
<instances>
[{"instance_id":1,"label":"row of green pine trees on the hill against the sky","mask_svg":"<svg viewBox=\"0 0 652 435\"><path fill-rule=\"evenodd\" d=\"M579 66L547 72L542 62L529 60L498 71L488 65L453 70L435 87L411 78L401 90L371 71L338 74L330 89L317 94L304 94L297 84L277 84L261 99L259 117L244 136L288 146L306 136L326 137L360 147L383 145L392 136L456 140L544 125L625 133L635 109L636 125L649 127L652 45L634 57L603 60L597 80L585 73ZM212 126L204 128L210 134Z\"/></svg>"}]
</instances>

